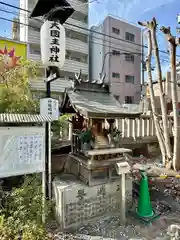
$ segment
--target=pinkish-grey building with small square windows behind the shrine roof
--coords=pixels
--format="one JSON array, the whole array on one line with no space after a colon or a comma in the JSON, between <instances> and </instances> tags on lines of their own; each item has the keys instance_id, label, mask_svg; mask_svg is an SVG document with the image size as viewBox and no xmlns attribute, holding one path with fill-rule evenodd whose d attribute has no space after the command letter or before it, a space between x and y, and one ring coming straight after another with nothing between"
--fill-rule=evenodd
<instances>
[{"instance_id":1,"label":"pinkish-grey building with small square windows behind the shrine roof","mask_svg":"<svg viewBox=\"0 0 180 240\"><path fill-rule=\"evenodd\" d=\"M92 27L89 56L90 79L97 80L103 70L106 74L105 81L111 84L111 92L120 103L139 103L141 97L139 27L107 16L100 25Z\"/></svg>"}]
</instances>

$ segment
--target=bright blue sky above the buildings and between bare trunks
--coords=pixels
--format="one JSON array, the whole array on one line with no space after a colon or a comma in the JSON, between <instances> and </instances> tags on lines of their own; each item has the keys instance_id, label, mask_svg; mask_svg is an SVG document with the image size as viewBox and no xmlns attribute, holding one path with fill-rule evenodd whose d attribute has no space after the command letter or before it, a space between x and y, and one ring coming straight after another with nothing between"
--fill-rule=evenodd
<instances>
[{"instance_id":1,"label":"bright blue sky above the buildings and between bare trunks","mask_svg":"<svg viewBox=\"0 0 180 240\"><path fill-rule=\"evenodd\" d=\"M19 6L19 0L4 0L5 3ZM137 21L150 20L156 17L160 26L170 26L172 33L176 34L177 14L180 13L179 0L90 0L90 25L99 24L105 16L113 14L117 17L127 19L133 23ZM13 14L0 12L0 17L12 19L18 10L0 4L0 9L12 11ZM11 37L12 23L0 20L0 35ZM163 34L158 32L159 48L167 51L168 44ZM179 47L180 48L180 47ZM178 53L180 51L178 49ZM167 69L168 55L161 54L163 69ZM179 57L180 59L180 57Z\"/></svg>"}]
</instances>

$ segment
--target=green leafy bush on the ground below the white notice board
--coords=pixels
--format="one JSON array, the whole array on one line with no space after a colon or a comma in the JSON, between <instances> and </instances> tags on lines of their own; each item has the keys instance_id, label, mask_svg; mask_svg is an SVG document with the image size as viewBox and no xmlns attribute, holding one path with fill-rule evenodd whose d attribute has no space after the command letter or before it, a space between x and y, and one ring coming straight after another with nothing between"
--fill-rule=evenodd
<instances>
[{"instance_id":1,"label":"green leafy bush on the ground below the white notice board","mask_svg":"<svg viewBox=\"0 0 180 240\"><path fill-rule=\"evenodd\" d=\"M39 175L26 177L20 188L6 197L0 215L0 239L46 240L42 214L48 218L52 203L42 204L43 193Z\"/></svg>"}]
</instances>

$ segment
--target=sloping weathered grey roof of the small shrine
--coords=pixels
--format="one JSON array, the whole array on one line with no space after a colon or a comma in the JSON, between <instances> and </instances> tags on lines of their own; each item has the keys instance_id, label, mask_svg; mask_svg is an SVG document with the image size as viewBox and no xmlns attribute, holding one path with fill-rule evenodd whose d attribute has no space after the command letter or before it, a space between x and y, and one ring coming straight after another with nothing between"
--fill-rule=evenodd
<instances>
[{"instance_id":1,"label":"sloping weathered grey roof of the small shrine","mask_svg":"<svg viewBox=\"0 0 180 240\"><path fill-rule=\"evenodd\" d=\"M89 91L88 89L68 90L65 93L61 112L80 112L82 115L91 118L120 118L124 116L140 116L139 109L128 109L123 107L112 94L106 91Z\"/></svg>"}]
</instances>

